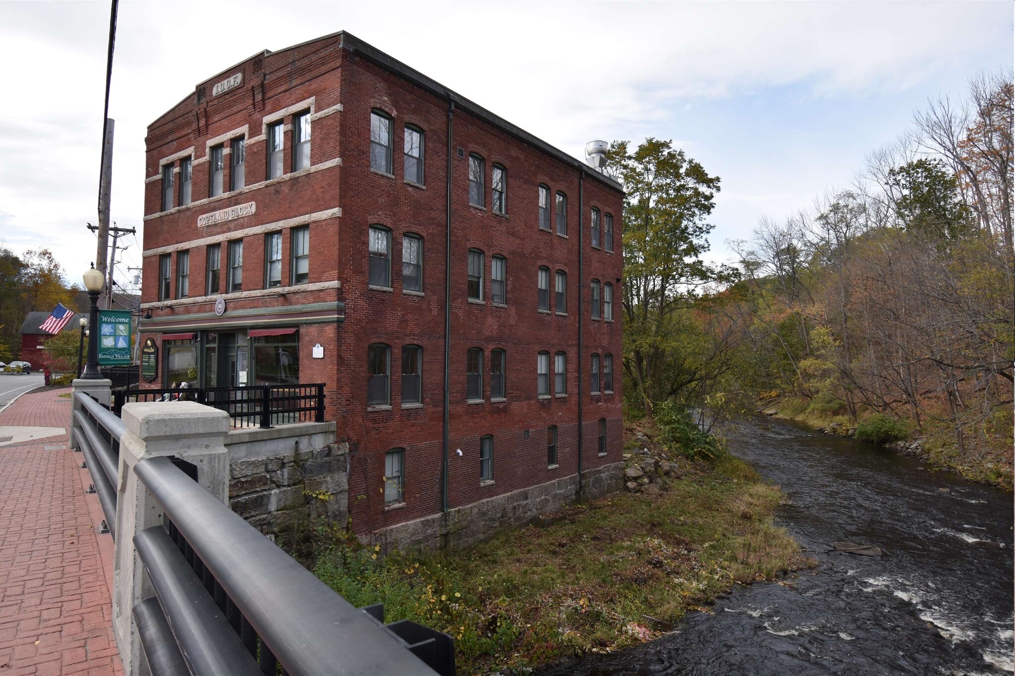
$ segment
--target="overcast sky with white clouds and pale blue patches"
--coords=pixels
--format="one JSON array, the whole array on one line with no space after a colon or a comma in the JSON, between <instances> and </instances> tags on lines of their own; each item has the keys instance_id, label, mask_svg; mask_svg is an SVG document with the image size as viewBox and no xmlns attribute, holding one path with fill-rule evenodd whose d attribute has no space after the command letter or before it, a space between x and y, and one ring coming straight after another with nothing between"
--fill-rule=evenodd
<instances>
[{"instance_id":1,"label":"overcast sky with white clouds and pale blue patches","mask_svg":"<svg viewBox=\"0 0 1015 676\"><path fill-rule=\"evenodd\" d=\"M1011 0L130 2L110 117L113 220L138 228L147 125L261 50L348 30L550 144L672 139L722 177L715 256L761 217L845 186L928 97L1009 68ZM94 258L109 2L0 0L0 245ZM127 280L127 271L118 275Z\"/></svg>"}]
</instances>

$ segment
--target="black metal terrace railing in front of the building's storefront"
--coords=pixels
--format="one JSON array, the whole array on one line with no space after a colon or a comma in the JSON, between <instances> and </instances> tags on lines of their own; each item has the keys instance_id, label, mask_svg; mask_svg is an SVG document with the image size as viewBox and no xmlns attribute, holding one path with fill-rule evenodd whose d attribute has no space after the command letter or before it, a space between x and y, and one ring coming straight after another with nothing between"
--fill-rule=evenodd
<instances>
[{"instance_id":1,"label":"black metal terrace railing in front of the building's storefront","mask_svg":"<svg viewBox=\"0 0 1015 676\"><path fill-rule=\"evenodd\" d=\"M197 401L227 412L233 429L324 422L324 383L115 390L113 412L133 401Z\"/></svg>"}]
</instances>

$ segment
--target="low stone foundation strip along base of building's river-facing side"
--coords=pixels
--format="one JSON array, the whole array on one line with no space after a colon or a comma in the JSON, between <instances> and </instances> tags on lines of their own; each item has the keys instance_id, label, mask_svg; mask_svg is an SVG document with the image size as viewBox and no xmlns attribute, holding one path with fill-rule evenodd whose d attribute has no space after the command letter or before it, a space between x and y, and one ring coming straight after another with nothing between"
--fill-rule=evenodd
<instances>
[{"instance_id":1,"label":"low stone foundation strip along base of building's river-facing side","mask_svg":"<svg viewBox=\"0 0 1015 676\"><path fill-rule=\"evenodd\" d=\"M615 493L623 485L622 462L583 472L584 497L588 500ZM457 507L447 514L434 514L407 521L362 536L385 551L400 549L460 549L489 538L501 528L518 528L544 514L556 512L574 502L578 474L548 483Z\"/></svg>"}]
</instances>

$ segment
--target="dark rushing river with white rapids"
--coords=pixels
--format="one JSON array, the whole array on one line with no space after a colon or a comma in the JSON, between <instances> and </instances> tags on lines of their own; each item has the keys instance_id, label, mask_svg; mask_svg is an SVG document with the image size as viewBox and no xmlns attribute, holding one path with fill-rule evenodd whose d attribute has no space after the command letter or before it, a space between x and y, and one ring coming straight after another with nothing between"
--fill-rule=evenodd
<instances>
[{"instance_id":1,"label":"dark rushing river with white rapids","mask_svg":"<svg viewBox=\"0 0 1015 676\"><path fill-rule=\"evenodd\" d=\"M543 676L1013 671L1010 493L780 421L746 421L727 436L782 486L776 518L818 552L817 568L738 587L661 639ZM834 540L888 555L826 553Z\"/></svg>"}]
</instances>

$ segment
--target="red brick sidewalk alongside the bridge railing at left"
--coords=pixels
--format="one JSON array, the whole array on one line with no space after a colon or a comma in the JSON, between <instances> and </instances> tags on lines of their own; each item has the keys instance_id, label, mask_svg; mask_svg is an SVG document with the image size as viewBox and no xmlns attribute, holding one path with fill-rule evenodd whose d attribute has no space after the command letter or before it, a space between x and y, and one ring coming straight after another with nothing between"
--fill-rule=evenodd
<instances>
[{"instance_id":1,"label":"red brick sidewalk alongside the bridge railing at left","mask_svg":"<svg viewBox=\"0 0 1015 676\"><path fill-rule=\"evenodd\" d=\"M70 399L57 396L69 391L22 395L0 427L69 427ZM0 676L123 673L99 553L112 542L94 530L81 460L66 435L0 446Z\"/></svg>"}]
</instances>

